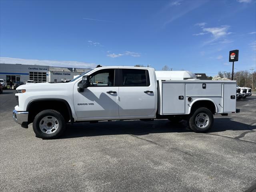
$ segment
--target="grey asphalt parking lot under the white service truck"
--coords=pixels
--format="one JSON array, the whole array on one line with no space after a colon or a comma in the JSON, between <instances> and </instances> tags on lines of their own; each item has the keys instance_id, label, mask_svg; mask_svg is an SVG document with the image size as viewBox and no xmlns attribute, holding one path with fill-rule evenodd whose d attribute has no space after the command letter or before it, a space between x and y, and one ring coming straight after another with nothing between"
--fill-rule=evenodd
<instances>
[{"instance_id":1,"label":"grey asphalt parking lot under the white service truck","mask_svg":"<svg viewBox=\"0 0 256 192\"><path fill-rule=\"evenodd\" d=\"M68 125L36 138L12 120L14 90L0 94L0 191L255 191L256 96L215 116L206 134L185 121Z\"/></svg>"}]
</instances>

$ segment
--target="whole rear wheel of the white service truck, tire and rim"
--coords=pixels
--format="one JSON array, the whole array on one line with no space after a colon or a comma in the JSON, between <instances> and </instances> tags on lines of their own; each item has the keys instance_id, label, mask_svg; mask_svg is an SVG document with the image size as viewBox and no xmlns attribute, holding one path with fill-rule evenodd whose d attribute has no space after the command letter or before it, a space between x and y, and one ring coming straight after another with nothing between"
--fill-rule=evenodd
<instances>
[{"instance_id":1,"label":"whole rear wheel of the white service truck, tire and rim","mask_svg":"<svg viewBox=\"0 0 256 192\"><path fill-rule=\"evenodd\" d=\"M208 108L198 108L189 118L189 126L194 132L208 131L214 122L212 112Z\"/></svg>"}]
</instances>

